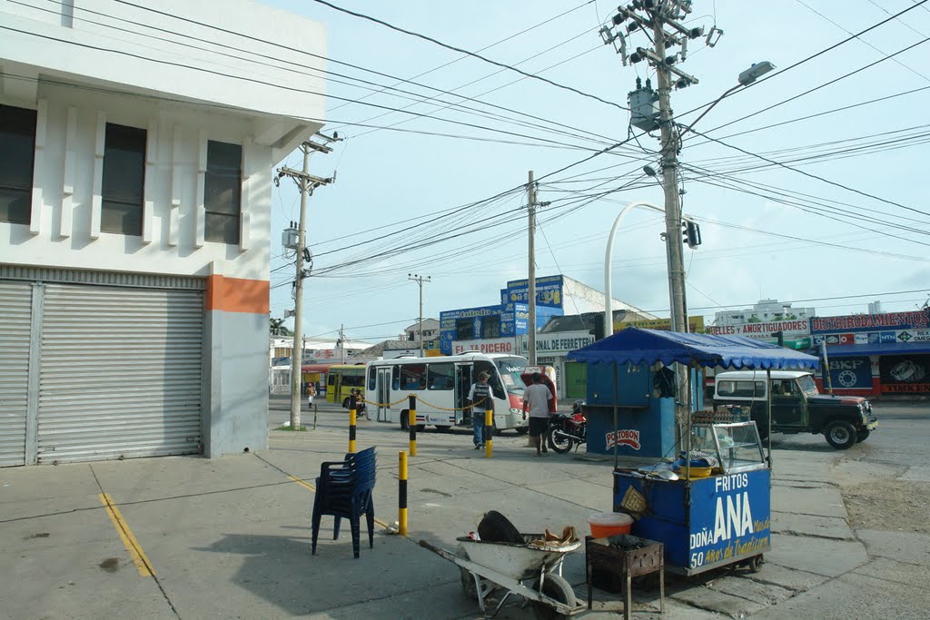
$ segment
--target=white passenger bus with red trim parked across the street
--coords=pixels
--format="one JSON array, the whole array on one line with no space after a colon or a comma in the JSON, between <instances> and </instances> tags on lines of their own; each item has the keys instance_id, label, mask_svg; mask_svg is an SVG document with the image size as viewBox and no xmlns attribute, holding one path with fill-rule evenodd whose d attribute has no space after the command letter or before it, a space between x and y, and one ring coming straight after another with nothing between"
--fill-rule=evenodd
<instances>
[{"instance_id":1,"label":"white passenger bus with red trim parked across the street","mask_svg":"<svg viewBox=\"0 0 930 620\"><path fill-rule=\"evenodd\" d=\"M522 435L529 430L523 413L525 385L520 378L526 364L525 357L479 351L369 362L365 369L365 401L372 403L367 405L368 416L408 429L409 400L405 397L416 394L418 430L428 424L440 431L471 427L471 411L461 409L469 404L468 393L475 377L486 371L494 393L496 431L515 429Z\"/></svg>"}]
</instances>

